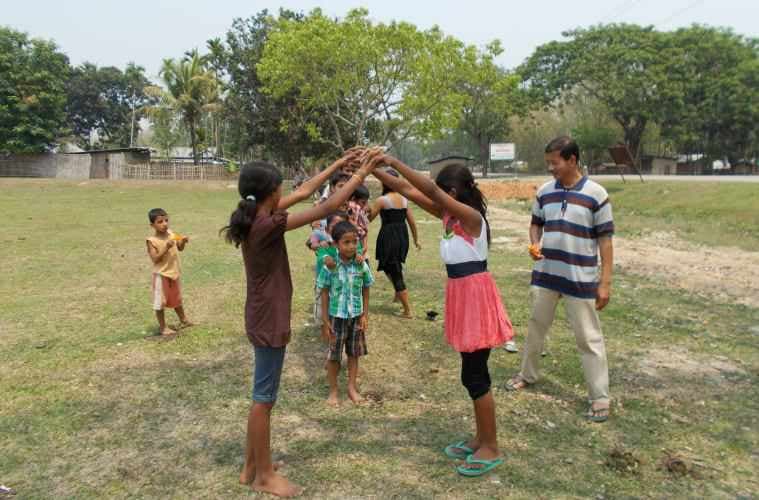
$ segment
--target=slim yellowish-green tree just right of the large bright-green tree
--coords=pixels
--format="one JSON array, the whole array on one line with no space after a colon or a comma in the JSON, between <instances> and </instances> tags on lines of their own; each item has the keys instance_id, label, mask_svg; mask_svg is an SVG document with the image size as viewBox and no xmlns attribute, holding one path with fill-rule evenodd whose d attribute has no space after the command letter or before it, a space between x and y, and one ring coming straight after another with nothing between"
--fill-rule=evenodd
<instances>
[{"instance_id":1,"label":"slim yellowish-green tree just right of the large bright-green tree","mask_svg":"<svg viewBox=\"0 0 759 500\"><path fill-rule=\"evenodd\" d=\"M456 86L456 91L465 98L459 126L477 144L485 177L490 143L505 140L509 118L526 109L526 100L520 95L519 76L506 72L494 62L502 52L498 41L489 44L484 52L467 47Z\"/></svg>"}]
</instances>

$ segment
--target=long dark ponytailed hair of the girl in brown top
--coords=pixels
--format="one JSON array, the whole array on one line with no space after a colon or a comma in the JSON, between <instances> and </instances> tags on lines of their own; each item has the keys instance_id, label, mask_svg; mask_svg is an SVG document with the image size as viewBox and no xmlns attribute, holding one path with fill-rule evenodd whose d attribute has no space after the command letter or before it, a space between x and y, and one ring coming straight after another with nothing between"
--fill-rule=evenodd
<instances>
[{"instance_id":1,"label":"long dark ponytailed hair of the girl in brown top","mask_svg":"<svg viewBox=\"0 0 759 500\"><path fill-rule=\"evenodd\" d=\"M274 165L254 161L242 167L237 184L237 190L242 199L229 217L229 225L220 231L227 243L239 247L248 239L248 233L256 218L257 204L271 196L280 184L282 184L282 174Z\"/></svg>"}]
</instances>

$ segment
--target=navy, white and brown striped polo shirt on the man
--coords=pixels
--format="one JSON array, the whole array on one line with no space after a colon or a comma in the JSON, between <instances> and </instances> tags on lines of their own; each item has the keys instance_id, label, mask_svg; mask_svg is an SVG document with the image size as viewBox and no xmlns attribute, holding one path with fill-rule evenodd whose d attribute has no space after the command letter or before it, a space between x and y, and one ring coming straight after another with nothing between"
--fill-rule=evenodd
<instances>
[{"instance_id":1,"label":"navy, white and brown striped polo shirt on the man","mask_svg":"<svg viewBox=\"0 0 759 500\"><path fill-rule=\"evenodd\" d=\"M606 190L583 177L571 188L545 183L532 206L532 224L543 227L542 252L532 285L581 299L596 298L598 238L614 233Z\"/></svg>"}]
</instances>

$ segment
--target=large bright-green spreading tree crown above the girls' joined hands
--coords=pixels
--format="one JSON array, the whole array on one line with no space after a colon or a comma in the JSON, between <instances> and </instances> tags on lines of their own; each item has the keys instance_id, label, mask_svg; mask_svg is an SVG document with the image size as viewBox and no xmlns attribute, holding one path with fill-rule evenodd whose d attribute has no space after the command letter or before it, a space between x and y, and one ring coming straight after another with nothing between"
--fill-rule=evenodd
<instances>
[{"instance_id":1,"label":"large bright-green spreading tree crown above the girls' joined hands","mask_svg":"<svg viewBox=\"0 0 759 500\"><path fill-rule=\"evenodd\" d=\"M271 95L297 92L312 137L345 149L455 125L461 98L449 75L460 47L436 28L374 24L365 9L342 19L316 9L301 21L277 23L257 69ZM314 114L328 126L312 120Z\"/></svg>"}]
</instances>

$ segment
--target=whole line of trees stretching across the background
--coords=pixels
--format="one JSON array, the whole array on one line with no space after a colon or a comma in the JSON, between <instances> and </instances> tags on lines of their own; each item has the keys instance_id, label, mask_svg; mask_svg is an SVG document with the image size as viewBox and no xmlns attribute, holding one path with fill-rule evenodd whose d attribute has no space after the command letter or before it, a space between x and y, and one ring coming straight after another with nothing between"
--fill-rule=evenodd
<instances>
[{"instance_id":1,"label":"whole line of trees stretching across the background","mask_svg":"<svg viewBox=\"0 0 759 500\"><path fill-rule=\"evenodd\" d=\"M759 41L694 25L630 24L564 33L519 67L496 63L438 28L377 23L364 9L332 18L266 10L224 37L142 67L72 67L51 41L0 28L0 152L148 144L197 159L267 158L295 167L356 144L407 161L464 154L486 168L489 144L515 142L542 168L544 142L580 142L584 161L626 144L643 153L759 156ZM151 126L142 137L134 123Z\"/></svg>"}]
</instances>

